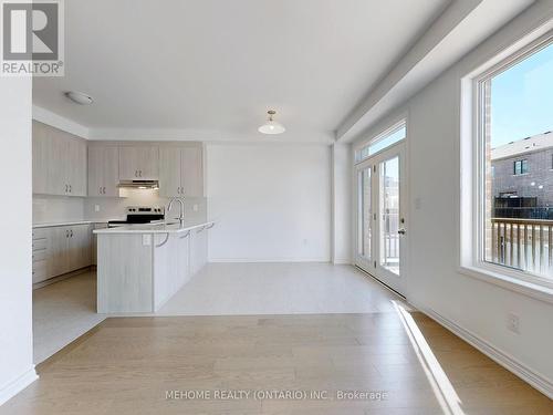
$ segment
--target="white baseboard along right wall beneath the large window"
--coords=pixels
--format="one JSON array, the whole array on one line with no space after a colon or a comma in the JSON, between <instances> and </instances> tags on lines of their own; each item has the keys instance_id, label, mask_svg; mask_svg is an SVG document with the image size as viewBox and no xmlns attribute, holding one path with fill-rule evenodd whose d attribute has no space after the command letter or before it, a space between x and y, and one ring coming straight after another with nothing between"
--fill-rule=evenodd
<instances>
[{"instance_id":1,"label":"white baseboard along right wall beneath the large window","mask_svg":"<svg viewBox=\"0 0 553 415\"><path fill-rule=\"evenodd\" d=\"M508 371L512 372L520 378L522 378L524 382L529 383L533 387L535 387L538 391L546 395L549 398L553 400L553 382L551 382L549 378L543 376L540 373L536 373L532 369L528 367L526 365L522 364L519 362L517 359L513 356L509 355L508 353L502 352L501 350L497 349L486 340L479 338L478 335L471 333L470 331L461 328L457 323L452 322L449 319L446 319L445 317L440 315L436 311L431 309L427 309L425 307L420 307L417 303L410 302L411 305L414 305L417 310L421 311L422 313L427 314L429 318L438 322L440 325L446 328L447 330L451 331L462 340L465 340L467 343L471 344L476 349L478 349L480 352L486 354L488 357L491 360L495 361L498 364L507 369Z\"/></svg>"}]
</instances>

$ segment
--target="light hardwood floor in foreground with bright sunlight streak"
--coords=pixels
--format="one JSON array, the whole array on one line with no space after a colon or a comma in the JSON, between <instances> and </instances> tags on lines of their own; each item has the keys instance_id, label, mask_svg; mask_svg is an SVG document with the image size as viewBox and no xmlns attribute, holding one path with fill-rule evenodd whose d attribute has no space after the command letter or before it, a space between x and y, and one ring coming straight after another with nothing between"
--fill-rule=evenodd
<instances>
[{"instance_id":1,"label":"light hardwood floor in foreground with bright sunlight streak","mask_svg":"<svg viewBox=\"0 0 553 415\"><path fill-rule=\"evenodd\" d=\"M393 304L365 314L107 319L39 365L40 380L0 413L553 414L547 397ZM167 400L171 390L316 390L334 398ZM386 398L336 400L343 390Z\"/></svg>"}]
</instances>

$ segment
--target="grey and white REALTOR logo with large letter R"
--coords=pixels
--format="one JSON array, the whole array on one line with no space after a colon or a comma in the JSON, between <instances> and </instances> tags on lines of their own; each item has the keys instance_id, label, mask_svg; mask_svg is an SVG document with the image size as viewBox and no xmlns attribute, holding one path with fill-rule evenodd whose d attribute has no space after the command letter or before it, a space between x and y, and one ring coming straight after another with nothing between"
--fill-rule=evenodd
<instances>
[{"instance_id":1,"label":"grey and white REALTOR logo with large letter R","mask_svg":"<svg viewBox=\"0 0 553 415\"><path fill-rule=\"evenodd\" d=\"M59 0L2 4L4 76L63 76L63 4Z\"/></svg>"}]
</instances>

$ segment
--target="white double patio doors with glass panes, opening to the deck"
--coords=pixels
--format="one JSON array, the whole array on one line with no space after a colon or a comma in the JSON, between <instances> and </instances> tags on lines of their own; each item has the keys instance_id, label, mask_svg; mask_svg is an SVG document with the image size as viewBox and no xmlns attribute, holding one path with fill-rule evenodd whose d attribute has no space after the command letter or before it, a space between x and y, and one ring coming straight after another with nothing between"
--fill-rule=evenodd
<instances>
[{"instance_id":1,"label":"white double patio doors with glass panes, opening to the deck","mask_svg":"<svg viewBox=\"0 0 553 415\"><path fill-rule=\"evenodd\" d=\"M399 293L404 292L404 143L356 166L356 264Z\"/></svg>"}]
</instances>

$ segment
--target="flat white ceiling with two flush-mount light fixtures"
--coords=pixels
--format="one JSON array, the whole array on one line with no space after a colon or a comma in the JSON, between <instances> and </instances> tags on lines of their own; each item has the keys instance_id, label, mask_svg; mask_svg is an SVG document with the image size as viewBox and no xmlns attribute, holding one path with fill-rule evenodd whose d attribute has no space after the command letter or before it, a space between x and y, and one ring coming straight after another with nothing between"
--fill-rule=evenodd
<instances>
[{"instance_id":1,"label":"flat white ceiling with two flush-mount light fixtures","mask_svg":"<svg viewBox=\"0 0 553 415\"><path fill-rule=\"evenodd\" d=\"M65 76L35 79L33 103L104 138L125 131L253 136L275 108L283 139L320 139L448 3L65 1ZM69 102L70 90L95 103Z\"/></svg>"}]
</instances>

